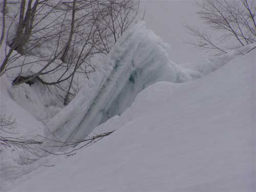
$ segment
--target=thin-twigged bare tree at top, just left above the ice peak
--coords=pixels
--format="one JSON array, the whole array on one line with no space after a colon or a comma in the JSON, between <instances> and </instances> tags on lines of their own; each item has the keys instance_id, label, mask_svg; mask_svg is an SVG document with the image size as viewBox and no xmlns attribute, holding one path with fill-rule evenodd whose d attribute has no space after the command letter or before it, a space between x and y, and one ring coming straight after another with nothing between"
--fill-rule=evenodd
<instances>
[{"instance_id":1,"label":"thin-twigged bare tree at top, just left above the ice peak","mask_svg":"<svg viewBox=\"0 0 256 192\"><path fill-rule=\"evenodd\" d=\"M108 54L117 39L136 21L139 14L139 1L106 0L97 1L97 15L100 19L98 33L100 44L98 50Z\"/></svg>"}]
</instances>

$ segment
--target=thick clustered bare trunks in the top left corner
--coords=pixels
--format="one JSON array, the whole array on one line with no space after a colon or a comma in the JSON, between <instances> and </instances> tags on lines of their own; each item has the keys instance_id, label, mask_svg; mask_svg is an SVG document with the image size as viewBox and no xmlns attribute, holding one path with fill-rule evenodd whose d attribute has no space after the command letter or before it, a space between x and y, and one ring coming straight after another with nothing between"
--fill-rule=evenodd
<instances>
[{"instance_id":1,"label":"thick clustered bare trunks in the top left corner","mask_svg":"<svg viewBox=\"0 0 256 192\"><path fill-rule=\"evenodd\" d=\"M41 39L47 38L47 35L44 35L44 38L39 36L37 39L33 39L33 38L30 39L30 37L35 33L35 31L38 32L46 29L45 27L45 28L40 28L38 30L37 28L34 28L34 27L36 27L42 21L42 18L47 17L47 15L51 13L51 11L41 15L42 18L40 18L35 25L34 25L34 22L35 22L36 16L39 15L39 13L37 12L38 6L43 7L47 1L48 0L39 2L38 0L36 1L29 0L28 4L26 3L26 0L16 2L16 4L19 4L18 13L14 14L12 18L12 22L11 24L9 24L9 28L7 31L7 39L6 39L6 46L9 46L9 47L5 48L6 54L5 54L4 61L2 62L0 67L0 76L13 68L23 68L23 66L25 65L32 64L32 63L23 63L22 65L12 66L12 63L14 63L20 57L23 57L23 56L26 57L27 55L30 55L31 50L33 50L37 46L38 42ZM33 6L32 6L32 2L33 2ZM7 4L9 3L7 2ZM25 10L26 5L27 5L27 11ZM40 10L40 8L38 10ZM25 11L26 11L26 14L25 14ZM18 18L16 35L14 38L10 38L9 30L13 25L13 21L16 20L16 18ZM47 67L50 65L49 63L52 63L51 62L52 56L55 56L57 58L56 52L54 53L55 54L49 56L48 59L46 58L44 59L44 61L50 60L50 62L47 63Z\"/></svg>"}]
</instances>

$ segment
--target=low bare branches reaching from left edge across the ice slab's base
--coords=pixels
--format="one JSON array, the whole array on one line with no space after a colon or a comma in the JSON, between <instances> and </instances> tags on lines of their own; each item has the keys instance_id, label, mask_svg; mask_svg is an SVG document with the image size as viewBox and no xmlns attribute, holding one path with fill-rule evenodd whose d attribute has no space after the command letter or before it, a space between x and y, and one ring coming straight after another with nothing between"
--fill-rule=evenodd
<instances>
[{"instance_id":1,"label":"low bare branches reaching from left edge across the ice slab's base","mask_svg":"<svg viewBox=\"0 0 256 192\"><path fill-rule=\"evenodd\" d=\"M40 158L41 152L47 152L48 154L53 155L66 155L67 157L75 155L75 151L80 150L82 147L89 146L100 139L109 136L114 131L106 132L102 134L95 134L94 136L90 136L87 139L84 140L71 140L69 142L62 142L57 138L57 136L54 135L55 139L49 139L48 137L37 135L37 137L25 137L25 136L18 136L19 133L16 131L16 120L10 115L7 117L6 115L0 116L0 152L4 150L4 148L11 147L13 149L20 148L24 152L28 152L26 159L23 159L27 164L36 161L38 158ZM42 143L44 141L50 141L50 146L44 146L42 147ZM79 146L77 146L80 144ZM52 148L59 148L59 147L71 147L71 146L77 146L76 148L72 148L69 151L63 152L63 153L52 153ZM31 156L32 155L32 156ZM30 157L33 157L31 159Z\"/></svg>"}]
</instances>

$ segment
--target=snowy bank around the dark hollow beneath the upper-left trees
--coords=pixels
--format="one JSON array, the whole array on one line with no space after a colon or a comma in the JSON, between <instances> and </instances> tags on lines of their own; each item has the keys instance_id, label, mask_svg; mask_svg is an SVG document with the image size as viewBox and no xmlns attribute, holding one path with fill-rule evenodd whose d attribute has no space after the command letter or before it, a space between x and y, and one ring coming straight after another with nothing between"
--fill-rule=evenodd
<instances>
[{"instance_id":1,"label":"snowy bank around the dark hollow beneath the upper-left trees","mask_svg":"<svg viewBox=\"0 0 256 192\"><path fill-rule=\"evenodd\" d=\"M6 47L7 52L9 47ZM34 116L37 120L48 122L54 115L56 115L61 108L63 103L58 99L58 92L54 87L47 87L41 84L39 81L34 80L30 86L26 83L20 84L19 86L12 87L12 81L18 76L29 76L37 73L42 66L47 63L35 56L23 56L13 51L13 54L17 54L17 58L10 63L7 67L5 77L1 78L1 81L6 81L9 84L8 92L10 97L16 101L19 106L22 106L27 112ZM0 63L5 58L5 45L0 47ZM59 64L60 60L56 60L52 63L49 69L53 69ZM22 63L31 63L30 65L22 65ZM46 81L56 81L56 76L45 75L41 78ZM5 83L6 84L6 83ZM5 89L1 89L6 91ZM60 93L61 94L61 93Z\"/></svg>"}]
</instances>

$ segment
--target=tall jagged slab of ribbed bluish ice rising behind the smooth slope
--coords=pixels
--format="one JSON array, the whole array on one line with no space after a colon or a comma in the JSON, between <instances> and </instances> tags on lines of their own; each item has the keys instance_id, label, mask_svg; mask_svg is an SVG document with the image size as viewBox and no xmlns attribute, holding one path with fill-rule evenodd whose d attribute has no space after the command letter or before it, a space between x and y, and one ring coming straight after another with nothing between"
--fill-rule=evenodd
<instances>
[{"instance_id":1,"label":"tall jagged slab of ribbed bluish ice rising behind the smooth slope","mask_svg":"<svg viewBox=\"0 0 256 192\"><path fill-rule=\"evenodd\" d=\"M254 45L255 46L255 45ZM246 48L248 49L248 48ZM222 56L202 59L188 66L177 65L169 58L167 47L144 23L125 32L108 55L106 62L66 108L48 124L50 139L67 142L86 138L100 123L120 115L138 93L158 81L185 82L215 71L231 60ZM45 146L55 145L47 141ZM66 147L49 147L62 151Z\"/></svg>"}]
</instances>

